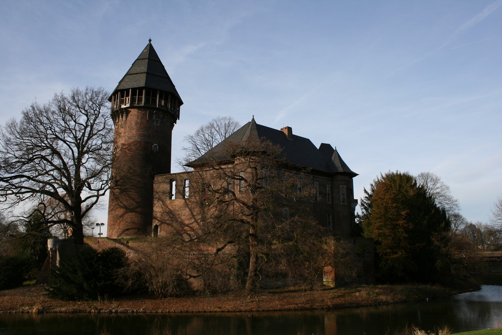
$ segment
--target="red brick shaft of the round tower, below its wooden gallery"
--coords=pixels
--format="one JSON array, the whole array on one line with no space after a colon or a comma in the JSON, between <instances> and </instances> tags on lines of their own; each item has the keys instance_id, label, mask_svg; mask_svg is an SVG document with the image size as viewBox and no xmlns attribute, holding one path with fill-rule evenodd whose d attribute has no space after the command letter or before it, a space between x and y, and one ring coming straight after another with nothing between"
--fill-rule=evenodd
<instances>
[{"instance_id":1,"label":"red brick shaft of the round tower, below its wooden gallery","mask_svg":"<svg viewBox=\"0 0 502 335\"><path fill-rule=\"evenodd\" d=\"M116 114L108 237L150 234L153 178L171 171L174 120L167 111L153 108L128 108Z\"/></svg>"}]
</instances>

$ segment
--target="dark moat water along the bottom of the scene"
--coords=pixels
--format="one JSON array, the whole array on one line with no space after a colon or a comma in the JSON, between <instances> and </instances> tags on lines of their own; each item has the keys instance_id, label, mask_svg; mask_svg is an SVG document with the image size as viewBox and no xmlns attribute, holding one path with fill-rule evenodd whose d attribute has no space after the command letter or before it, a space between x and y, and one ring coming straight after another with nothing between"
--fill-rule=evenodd
<instances>
[{"instance_id":1,"label":"dark moat water along the bottom of the scene","mask_svg":"<svg viewBox=\"0 0 502 335\"><path fill-rule=\"evenodd\" d=\"M422 303L321 311L211 314L0 314L0 334L394 334L406 325L455 332L502 324L502 286Z\"/></svg>"}]
</instances>

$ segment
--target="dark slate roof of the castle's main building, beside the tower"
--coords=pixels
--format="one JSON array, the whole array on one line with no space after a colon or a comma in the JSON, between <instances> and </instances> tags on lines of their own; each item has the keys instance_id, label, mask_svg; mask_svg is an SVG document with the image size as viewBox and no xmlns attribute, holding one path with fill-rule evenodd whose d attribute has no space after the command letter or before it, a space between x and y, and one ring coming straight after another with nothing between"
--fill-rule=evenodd
<instances>
[{"instance_id":1,"label":"dark slate roof of the castle's main building, beside the tower","mask_svg":"<svg viewBox=\"0 0 502 335\"><path fill-rule=\"evenodd\" d=\"M293 135L293 139L290 140L283 131L257 124L255 118L204 155L188 163L187 166L197 167L210 164L211 162L230 161L231 158L228 157L225 150L226 146L229 143L244 142L247 139L266 139L274 145L281 146L283 154L286 156L286 161L289 164L311 168L320 172L348 173L352 177L357 176L357 173L350 170L336 149L333 149L329 144L323 143L317 149L307 138Z\"/></svg>"}]
</instances>

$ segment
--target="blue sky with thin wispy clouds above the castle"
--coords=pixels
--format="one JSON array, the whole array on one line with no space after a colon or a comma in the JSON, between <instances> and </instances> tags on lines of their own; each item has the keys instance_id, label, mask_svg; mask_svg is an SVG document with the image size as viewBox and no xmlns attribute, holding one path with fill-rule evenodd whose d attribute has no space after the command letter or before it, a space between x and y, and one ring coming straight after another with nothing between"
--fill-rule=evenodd
<instances>
[{"instance_id":1,"label":"blue sky with thin wispy clouds above the castle","mask_svg":"<svg viewBox=\"0 0 502 335\"><path fill-rule=\"evenodd\" d=\"M430 171L487 222L502 194L502 0L5 0L0 18L2 124L111 91L152 38L185 102L173 158L209 120L254 115L336 146L356 198L381 172Z\"/></svg>"}]
</instances>

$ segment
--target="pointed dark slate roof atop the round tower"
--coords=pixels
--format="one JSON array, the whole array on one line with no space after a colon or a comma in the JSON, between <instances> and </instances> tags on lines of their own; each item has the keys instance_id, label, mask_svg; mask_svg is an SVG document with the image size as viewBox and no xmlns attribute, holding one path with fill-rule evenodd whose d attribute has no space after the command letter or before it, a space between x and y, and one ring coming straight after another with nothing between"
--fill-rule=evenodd
<instances>
[{"instance_id":1,"label":"pointed dark slate roof atop the round tower","mask_svg":"<svg viewBox=\"0 0 502 335\"><path fill-rule=\"evenodd\" d=\"M131 65L126 75L118 82L117 87L115 87L111 95L115 94L115 91L119 89L141 87L173 93L180 99L180 105L183 104L173 81L169 77L169 74L167 74L157 52L155 52L152 40L148 40L145 49L134 61L133 65ZM111 96L109 99L111 99Z\"/></svg>"}]
</instances>

